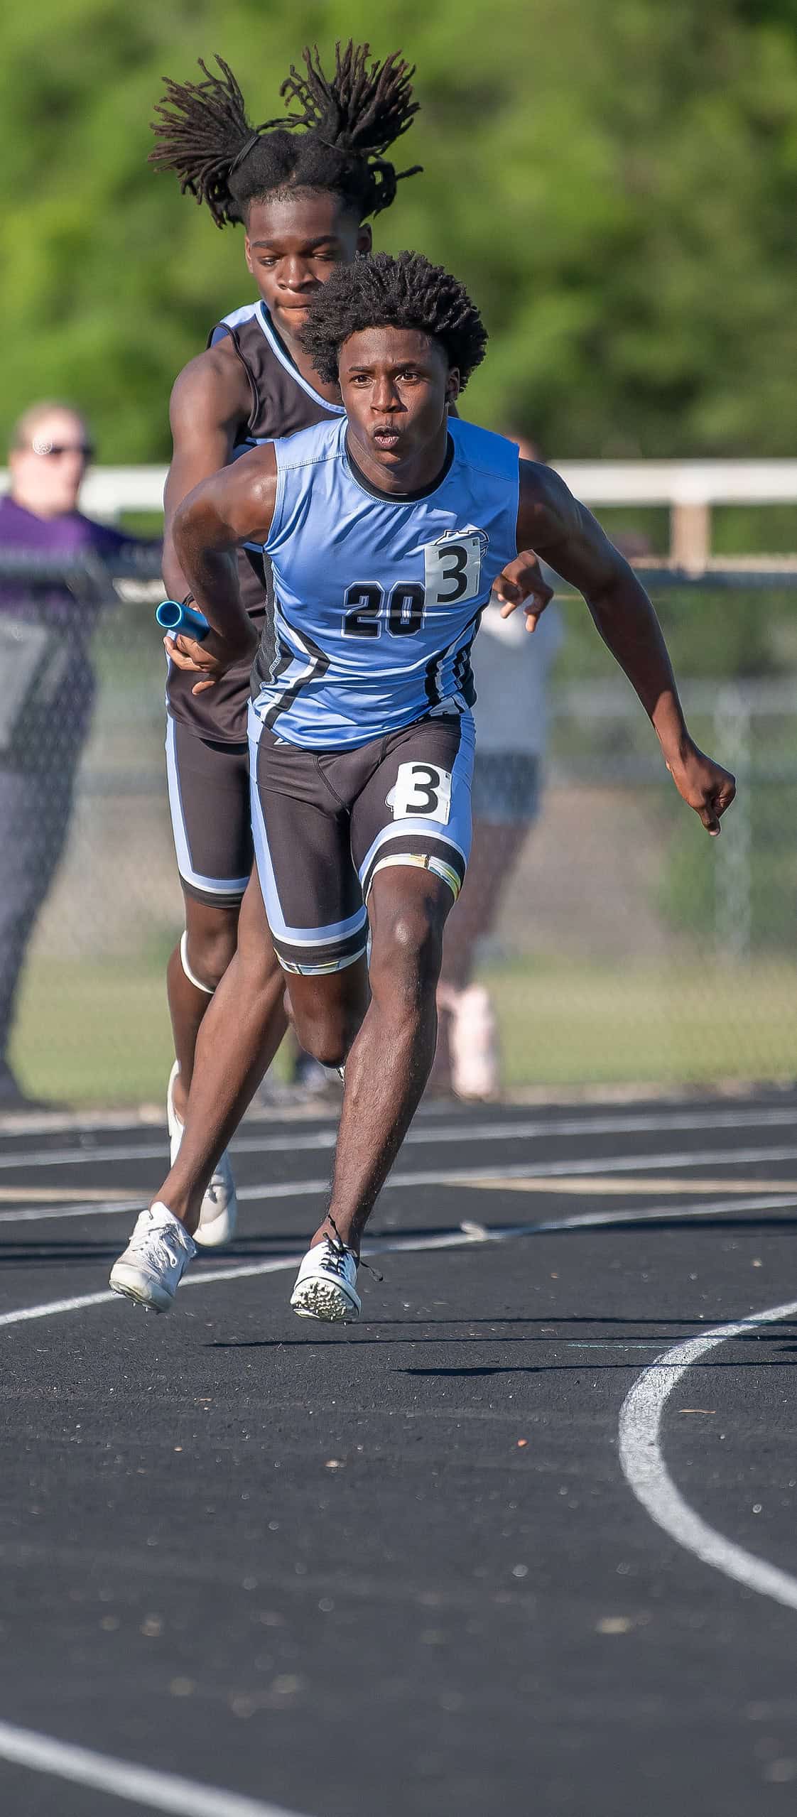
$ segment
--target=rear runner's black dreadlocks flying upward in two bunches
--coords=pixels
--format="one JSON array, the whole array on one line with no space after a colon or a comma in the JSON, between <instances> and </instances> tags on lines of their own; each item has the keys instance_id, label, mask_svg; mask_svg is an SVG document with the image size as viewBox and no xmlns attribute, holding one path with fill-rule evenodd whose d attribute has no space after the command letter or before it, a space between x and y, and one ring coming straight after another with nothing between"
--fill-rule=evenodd
<instances>
[{"instance_id":1,"label":"rear runner's black dreadlocks flying upward in two bunches","mask_svg":"<svg viewBox=\"0 0 797 1817\"><path fill-rule=\"evenodd\" d=\"M200 58L203 82L165 82L149 162L176 171L180 189L205 202L216 222L245 220L256 198L280 189L329 189L365 220L396 200L396 185L421 171L396 171L385 158L412 125L414 65L399 51L369 62L369 44L334 47L334 76L325 76L318 45L305 47L305 73L290 65L280 94L298 113L252 127L229 64L218 71Z\"/></svg>"}]
</instances>

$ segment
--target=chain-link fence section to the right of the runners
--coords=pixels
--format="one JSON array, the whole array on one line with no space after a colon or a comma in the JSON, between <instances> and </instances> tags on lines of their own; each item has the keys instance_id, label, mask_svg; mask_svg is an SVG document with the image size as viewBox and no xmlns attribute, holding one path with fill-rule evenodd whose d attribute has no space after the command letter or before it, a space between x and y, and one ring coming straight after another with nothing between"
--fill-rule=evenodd
<instances>
[{"instance_id":1,"label":"chain-link fence section to the right of the runners","mask_svg":"<svg viewBox=\"0 0 797 1817\"><path fill-rule=\"evenodd\" d=\"M710 839L570 600L581 674L566 640L543 812L485 952L510 1083L797 1070L797 574L648 585L690 730L735 772L737 799Z\"/></svg>"}]
</instances>

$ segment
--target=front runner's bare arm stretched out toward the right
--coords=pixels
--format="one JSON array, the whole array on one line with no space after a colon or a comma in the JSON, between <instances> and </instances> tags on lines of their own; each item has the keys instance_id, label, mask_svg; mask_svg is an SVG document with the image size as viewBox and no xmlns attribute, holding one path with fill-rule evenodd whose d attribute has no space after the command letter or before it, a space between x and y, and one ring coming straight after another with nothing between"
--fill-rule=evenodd
<instances>
[{"instance_id":1,"label":"front runner's bare arm stretched out toward the right","mask_svg":"<svg viewBox=\"0 0 797 1817\"><path fill-rule=\"evenodd\" d=\"M735 779L690 738L654 605L586 505L536 462L521 462L517 543L539 551L583 592L603 641L639 694L675 789L706 832L717 834Z\"/></svg>"}]
</instances>

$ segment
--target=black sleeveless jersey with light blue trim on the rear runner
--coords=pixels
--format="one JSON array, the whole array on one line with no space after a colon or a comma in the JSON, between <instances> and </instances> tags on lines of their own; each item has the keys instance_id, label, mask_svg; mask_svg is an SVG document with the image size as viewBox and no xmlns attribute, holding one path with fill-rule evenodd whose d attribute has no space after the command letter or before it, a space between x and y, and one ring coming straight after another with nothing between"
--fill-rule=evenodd
<instances>
[{"instance_id":1,"label":"black sleeveless jersey with light blue trim on the rear runner","mask_svg":"<svg viewBox=\"0 0 797 1817\"><path fill-rule=\"evenodd\" d=\"M232 460L258 442L292 436L298 429L343 416L343 405L327 403L294 365L263 302L245 303L243 309L223 316L209 334L207 345L216 345L223 336L231 338L243 365L251 398L249 418L240 425ZM261 549L252 545L238 552L238 574L243 605L260 634L258 661L269 665L274 650L274 601L271 565ZM191 725L200 738L223 745L245 743L249 676L249 661L234 663L216 687L205 694L192 694L198 676L172 663L167 680L169 712Z\"/></svg>"}]
</instances>

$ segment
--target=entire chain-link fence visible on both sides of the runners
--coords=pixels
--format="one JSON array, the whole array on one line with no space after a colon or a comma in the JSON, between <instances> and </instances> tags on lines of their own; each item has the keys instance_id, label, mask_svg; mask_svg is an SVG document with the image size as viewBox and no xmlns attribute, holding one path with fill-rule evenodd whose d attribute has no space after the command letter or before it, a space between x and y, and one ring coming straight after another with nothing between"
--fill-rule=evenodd
<instances>
[{"instance_id":1,"label":"entire chain-link fence visible on both sides of the runners","mask_svg":"<svg viewBox=\"0 0 797 1817\"><path fill-rule=\"evenodd\" d=\"M69 1103L158 1101L171 1065L163 968L182 896L147 565L113 587L96 563L73 572L78 636L76 620L58 634L42 612L53 574L0 561L5 979L34 918L9 1054L27 1092ZM501 752L485 752L487 858L467 892L488 901L456 979L474 965L492 998L508 1088L797 1070L797 576L674 580L659 571L650 587L690 727L735 770L739 796L708 839L586 609L561 600L543 767L505 752L526 799L512 836L507 807L490 818L507 792ZM479 680L479 643L474 665Z\"/></svg>"}]
</instances>

